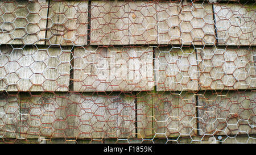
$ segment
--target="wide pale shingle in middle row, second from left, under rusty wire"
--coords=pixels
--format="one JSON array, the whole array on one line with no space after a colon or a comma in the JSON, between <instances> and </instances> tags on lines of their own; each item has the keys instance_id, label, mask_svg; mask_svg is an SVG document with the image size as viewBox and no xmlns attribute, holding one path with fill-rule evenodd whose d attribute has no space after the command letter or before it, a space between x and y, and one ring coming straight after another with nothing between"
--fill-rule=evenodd
<instances>
[{"instance_id":1,"label":"wide pale shingle in middle row, second from left, under rusty wire","mask_svg":"<svg viewBox=\"0 0 256 155\"><path fill-rule=\"evenodd\" d=\"M153 51L142 48L75 48L74 91L152 90Z\"/></svg>"}]
</instances>

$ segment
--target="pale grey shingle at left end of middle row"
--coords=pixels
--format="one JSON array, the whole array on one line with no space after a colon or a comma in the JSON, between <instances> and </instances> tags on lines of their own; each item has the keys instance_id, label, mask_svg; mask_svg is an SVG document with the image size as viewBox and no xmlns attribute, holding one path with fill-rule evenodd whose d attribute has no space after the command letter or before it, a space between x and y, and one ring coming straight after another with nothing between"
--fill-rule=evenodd
<instances>
[{"instance_id":1,"label":"pale grey shingle at left end of middle row","mask_svg":"<svg viewBox=\"0 0 256 155\"><path fill-rule=\"evenodd\" d=\"M68 90L70 52L60 48L0 48L2 91Z\"/></svg>"}]
</instances>

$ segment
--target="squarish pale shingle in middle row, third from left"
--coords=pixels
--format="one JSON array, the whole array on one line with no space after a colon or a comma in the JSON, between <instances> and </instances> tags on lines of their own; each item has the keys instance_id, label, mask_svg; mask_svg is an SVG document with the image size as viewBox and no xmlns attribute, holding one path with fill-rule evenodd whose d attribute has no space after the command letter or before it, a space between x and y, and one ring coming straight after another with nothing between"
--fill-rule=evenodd
<instances>
[{"instance_id":1,"label":"squarish pale shingle in middle row, third from left","mask_svg":"<svg viewBox=\"0 0 256 155\"><path fill-rule=\"evenodd\" d=\"M155 58L157 91L198 89L196 53L192 48L160 47Z\"/></svg>"}]
</instances>

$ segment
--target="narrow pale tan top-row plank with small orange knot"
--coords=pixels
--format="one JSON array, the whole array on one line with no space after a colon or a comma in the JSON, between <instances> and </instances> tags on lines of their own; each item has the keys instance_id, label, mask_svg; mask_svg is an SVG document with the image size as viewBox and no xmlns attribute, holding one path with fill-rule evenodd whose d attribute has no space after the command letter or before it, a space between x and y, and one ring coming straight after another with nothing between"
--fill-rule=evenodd
<instances>
[{"instance_id":1,"label":"narrow pale tan top-row plank with small orange knot","mask_svg":"<svg viewBox=\"0 0 256 155\"><path fill-rule=\"evenodd\" d=\"M157 44L156 5L152 2L129 2L129 43Z\"/></svg>"}]
</instances>

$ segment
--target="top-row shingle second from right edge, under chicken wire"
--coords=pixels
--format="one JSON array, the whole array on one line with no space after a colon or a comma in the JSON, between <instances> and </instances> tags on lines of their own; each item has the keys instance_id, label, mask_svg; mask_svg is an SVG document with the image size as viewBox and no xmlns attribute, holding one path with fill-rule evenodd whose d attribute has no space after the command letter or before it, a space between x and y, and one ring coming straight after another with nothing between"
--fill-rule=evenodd
<instances>
[{"instance_id":1,"label":"top-row shingle second from right edge, under chicken wire","mask_svg":"<svg viewBox=\"0 0 256 155\"><path fill-rule=\"evenodd\" d=\"M159 2L158 44L212 45L215 42L212 5Z\"/></svg>"}]
</instances>

